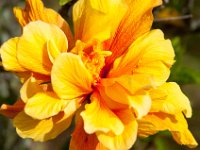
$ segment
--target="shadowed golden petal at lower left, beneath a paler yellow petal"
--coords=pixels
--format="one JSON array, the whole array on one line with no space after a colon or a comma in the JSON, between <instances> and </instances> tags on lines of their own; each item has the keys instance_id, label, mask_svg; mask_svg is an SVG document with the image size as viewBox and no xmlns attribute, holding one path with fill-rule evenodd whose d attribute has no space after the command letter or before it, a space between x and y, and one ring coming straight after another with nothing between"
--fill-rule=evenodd
<instances>
[{"instance_id":1,"label":"shadowed golden petal at lower left, beneath a paler yellow petal","mask_svg":"<svg viewBox=\"0 0 200 150\"><path fill-rule=\"evenodd\" d=\"M14 118L14 126L22 138L42 142L57 137L69 127L71 120L72 116L65 115L64 112L48 119L37 120L22 111Z\"/></svg>"}]
</instances>

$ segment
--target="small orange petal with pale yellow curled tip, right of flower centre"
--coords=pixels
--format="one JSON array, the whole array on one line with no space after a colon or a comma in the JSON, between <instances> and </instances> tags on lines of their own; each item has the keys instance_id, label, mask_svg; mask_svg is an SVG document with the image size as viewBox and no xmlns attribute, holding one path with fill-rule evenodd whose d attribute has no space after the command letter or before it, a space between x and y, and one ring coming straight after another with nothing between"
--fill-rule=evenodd
<instances>
[{"instance_id":1,"label":"small orange petal with pale yellow curled tip, right of flower centre","mask_svg":"<svg viewBox=\"0 0 200 150\"><path fill-rule=\"evenodd\" d=\"M131 78L126 78L126 79L128 80ZM123 79L121 81L125 80ZM135 90L135 93L132 94L131 92L129 92L129 90L131 89L127 90L126 88L134 87L134 84L130 85L134 83L133 82L134 80L132 80L132 82L131 80L129 80L130 82L125 81L123 83L121 81L116 79L112 85L102 86L101 88L104 90L105 95L108 96L113 101L128 105L129 107L133 108L137 118L141 118L142 116L146 115L151 108L151 98L148 95L148 93L144 91L146 87L141 86L141 89L138 89L138 91Z\"/></svg>"}]
</instances>

